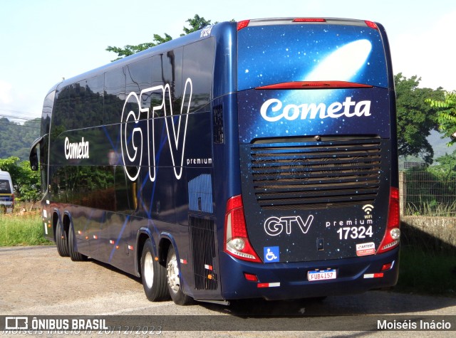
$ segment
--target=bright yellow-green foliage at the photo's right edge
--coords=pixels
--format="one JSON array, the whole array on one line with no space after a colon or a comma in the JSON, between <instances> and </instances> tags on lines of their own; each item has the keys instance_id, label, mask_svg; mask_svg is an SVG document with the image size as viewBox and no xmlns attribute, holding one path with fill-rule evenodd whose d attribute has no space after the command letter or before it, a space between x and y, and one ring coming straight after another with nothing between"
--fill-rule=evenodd
<instances>
[{"instance_id":1,"label":"bright yellow-green foliage at the photo's right edge","mask_svg":"<svg viewBox=\"0 0 456 338\"><path fill-rule=\"evenodd\" d=\"M437 122L439 130L446 137L451 137L448 145L456 143L456 91L445 92L443 100L435 100L428 97L426 102L430 107L437 108Z\"/></svg>"}]
</instances>

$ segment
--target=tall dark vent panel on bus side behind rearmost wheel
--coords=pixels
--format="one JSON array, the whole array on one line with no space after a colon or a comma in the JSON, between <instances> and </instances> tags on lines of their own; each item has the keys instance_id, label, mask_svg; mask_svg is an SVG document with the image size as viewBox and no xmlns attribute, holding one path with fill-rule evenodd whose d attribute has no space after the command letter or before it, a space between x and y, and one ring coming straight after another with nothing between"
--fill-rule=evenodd
<instances>
[{"instance_id":1,"label":"tall dark vent panel on bus side behind rearmost wheel","mask_svg":"<svg viewBox=\"0 0 456 338\"><path fill-rule=\"evenodd\" d=\"M217 290L214 268L215 236L212 219L190 216L190 243L193 251L193 269L197 290ZM210 278L209 278L210 275Z\"/></svg>"}]
</instances>

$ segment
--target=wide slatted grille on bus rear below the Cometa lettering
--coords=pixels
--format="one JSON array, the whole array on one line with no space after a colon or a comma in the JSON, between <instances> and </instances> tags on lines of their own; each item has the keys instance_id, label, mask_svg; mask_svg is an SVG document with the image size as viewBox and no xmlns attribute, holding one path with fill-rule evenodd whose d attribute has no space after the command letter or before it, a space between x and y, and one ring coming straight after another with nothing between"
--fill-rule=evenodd
<instances>
[{"instance_id":1,"label":"wide slatted grille on bus rear below the Cometa lettering","mask_svg":"<svg viewBox=\"0 0 456 338\"><path fill-rule=\"evenodd\" d=\"M380 185L380 139L252 144L261 208L318 209L371 204Z\"/></svg>"}]
</instances>

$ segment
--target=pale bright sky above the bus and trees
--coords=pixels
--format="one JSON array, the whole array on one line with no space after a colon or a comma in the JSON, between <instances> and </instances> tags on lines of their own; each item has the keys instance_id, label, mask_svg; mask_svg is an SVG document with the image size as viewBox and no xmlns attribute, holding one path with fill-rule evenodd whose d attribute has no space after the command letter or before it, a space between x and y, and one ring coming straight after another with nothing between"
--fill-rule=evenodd
<instances>
[{"instance_id":1,"label":"pale bright sky above the bus and trees","mask_svg":"<svg viewBox=\"0 0 456 338\"><path fill-rule=\"evenodd\" d=\"M456 90L454 0L0 0L0 118L41 116L62 78L110 63L123 47L177 38L198 14L215 21L338 17L385 26L393 72L418 75L420 87Z\"/></svg>"}]
</instances>

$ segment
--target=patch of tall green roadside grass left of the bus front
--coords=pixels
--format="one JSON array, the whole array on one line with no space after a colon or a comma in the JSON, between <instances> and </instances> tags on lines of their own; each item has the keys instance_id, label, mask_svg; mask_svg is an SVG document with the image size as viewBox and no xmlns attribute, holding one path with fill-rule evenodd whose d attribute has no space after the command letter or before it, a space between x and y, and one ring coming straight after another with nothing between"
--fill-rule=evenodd
<instances>
[{"instance_id":1,"label":"patch of tall green roadside grass left of the bus front","mask_svg":"<svg viewBox=\"0 0 456 338\"><path fill-rule=\"evenodd\" d=\"M52 242L43 236L41 216L0 215L0 246L48 245Z\"/></svg>"}]
</instances>

